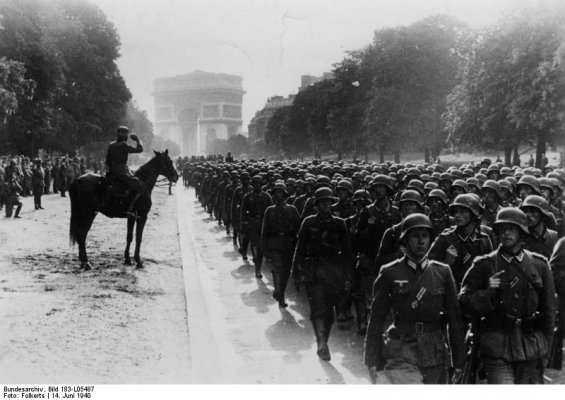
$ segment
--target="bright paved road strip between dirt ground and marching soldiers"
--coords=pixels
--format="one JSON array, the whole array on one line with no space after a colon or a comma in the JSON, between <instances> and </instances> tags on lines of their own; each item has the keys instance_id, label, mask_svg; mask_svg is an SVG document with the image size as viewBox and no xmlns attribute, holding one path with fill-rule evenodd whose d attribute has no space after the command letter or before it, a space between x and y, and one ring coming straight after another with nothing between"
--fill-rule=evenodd
<instances>
[{"instance_id":1,"label":"bright paved road strip between dirt ground and marching soldiers","mask_svg":"<svg viewBox=\"0 0 565 400\"><path fill-rule=\"evenodd\" d=\"M194 190L176 188L179 238L187 291L193 371L213 383L368 383L362 337L354 322L334 326L331 362L320 361L304 290L290 287L289 307L271 297L263 279L209 218ZM292 286L292 285L290 285Z\"/></svg>"}]
</instances>

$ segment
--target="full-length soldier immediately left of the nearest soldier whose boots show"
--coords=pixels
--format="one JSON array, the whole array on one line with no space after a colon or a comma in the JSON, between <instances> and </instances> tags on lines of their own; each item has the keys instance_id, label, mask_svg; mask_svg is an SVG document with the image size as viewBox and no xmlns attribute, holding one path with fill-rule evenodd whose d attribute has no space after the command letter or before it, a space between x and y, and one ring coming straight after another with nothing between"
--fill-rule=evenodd
<instances>
[{"instance_id":1,"label":"full-length soldier immediately left of the nearest soldier whose boots show","mask_svg":"<svg viewBox=\"0 0 565 400\"><path fill-rule=\"evenodd\" d=\"M280 307L284 308L287 306L284 294L290 278L300 216L296 207L285 202L288 193L284 183L276 182L271 194L275 204L265 211L261 230L261 248L272 269L275 287L273 298L278 301Z\"/></svg>"}]
</instances>

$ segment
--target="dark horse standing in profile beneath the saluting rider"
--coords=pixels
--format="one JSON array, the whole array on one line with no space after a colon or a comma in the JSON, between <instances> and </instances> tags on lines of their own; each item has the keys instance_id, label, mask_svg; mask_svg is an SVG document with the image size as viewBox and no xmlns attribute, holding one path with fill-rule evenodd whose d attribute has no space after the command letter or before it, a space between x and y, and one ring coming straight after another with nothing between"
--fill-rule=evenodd
<instances>
[{"instance_id":1,"label":"dark horse standing in profile beneath the saluting rider","mask_svg":"<svg viewBox=\"0 0 565 400\"><path fill-rule=\"evenodd\" d=\"M138 198L133 211L136 218L128 218L127 221L127 245L124 252L125 264L131 265L129 255L130 244L133 239L133 228L135 232L135 253L134 260L136 268L143 268L140 257L141 239L143 228L147 222L147 214L151 209L151 192L157 183L159 175L164 175L169 182L178 180L178 173L175 169L169 151L154 151L155 156L147 163L142 165L134 176L139 178L145 187L145 192ZM71 198L71 223L69 237L71 244L78 243L80 266L84 270L90 270L91 266L86 255L86 236L92 226L92 222L98 212L109 218L127 218L128 209L135 193L126 191L118 193L118 188L123 186L112 178L102 177L97 174L84 174L71 184L69 195Z\"/></svg>"}]
</instances>

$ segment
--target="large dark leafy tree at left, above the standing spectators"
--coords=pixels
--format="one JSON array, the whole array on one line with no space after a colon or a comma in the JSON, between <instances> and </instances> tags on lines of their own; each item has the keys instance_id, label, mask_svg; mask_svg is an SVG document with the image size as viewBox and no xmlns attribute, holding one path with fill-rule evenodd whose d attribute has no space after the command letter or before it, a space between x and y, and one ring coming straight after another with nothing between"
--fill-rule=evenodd
<instances>
[{"instance_id":1,"label":"large dark leafy tree at left, above the standing spectators","mask_svg":"<svg viewBox=\"0 0 565 400\"><path fill-rule=\"evenodd\" d=\"M5 129L11 146L73 152L107 141L131 98L115 60L119 38L85 0L5 0L0 54L20 62L35 90Z\"/></svg>"}]
</instances>

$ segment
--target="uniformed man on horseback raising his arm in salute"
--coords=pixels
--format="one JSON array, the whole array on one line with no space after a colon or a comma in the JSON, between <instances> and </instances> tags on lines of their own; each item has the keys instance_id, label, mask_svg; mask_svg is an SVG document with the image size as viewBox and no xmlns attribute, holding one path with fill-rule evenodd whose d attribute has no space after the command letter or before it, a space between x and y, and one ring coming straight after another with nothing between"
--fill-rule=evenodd
<instances>
[{"instance_id":1,"label":"uniformed man on horseback raising his arm in salute","mask_svg":"<svg viewBox=\"0 0 565 400\"><path fill-rule=\"evenodd\" d=\"M131 137L137 143L136 147L127 144L128 138ZM133 198L126 215L130 218L136 218L133 208L136 201L141 197L145 191L143 184L139 178L135 177L128 168L128 154L141 153L143 151L143 144L135 134L129 134L129 129L125 126L118 128L117 139L110 143L108 146L108 153L106 155L106 165L108 166L108 174L116 178L118 181L125 184L128 188L134 191L135 197Z\"/></svg>"}]
</instances>

